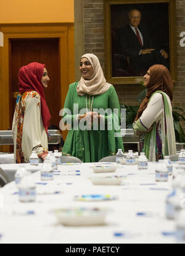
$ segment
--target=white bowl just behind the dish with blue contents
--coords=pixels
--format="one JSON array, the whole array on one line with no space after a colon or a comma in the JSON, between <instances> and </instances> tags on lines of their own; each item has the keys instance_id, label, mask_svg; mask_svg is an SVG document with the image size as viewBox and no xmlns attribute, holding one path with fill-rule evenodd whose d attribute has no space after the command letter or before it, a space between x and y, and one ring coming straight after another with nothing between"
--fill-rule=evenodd
<instances>
[{"instance_id":1,"label":"white bowl just behind the dish with blue contents","mask_svg":"<svg viewBox=\"0 0 185 256\"><path fill-rule=\"evenodd\" d=\"M104 177L90 177L92 184L94 185L121 185L121 182L125 176L112 175Z\"/></svg>"}]
</instances>

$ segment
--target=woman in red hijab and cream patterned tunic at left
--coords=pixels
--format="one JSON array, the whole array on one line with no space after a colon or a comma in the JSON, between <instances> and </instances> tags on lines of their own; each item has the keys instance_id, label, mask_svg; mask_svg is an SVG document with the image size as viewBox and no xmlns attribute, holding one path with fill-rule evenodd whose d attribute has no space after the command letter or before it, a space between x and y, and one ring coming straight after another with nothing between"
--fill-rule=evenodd
<instances>
[{"instance_id":1,"label":"woman in red hijab and cream patterned tunic at left","mask_svg":"<svg viewBox=\"0 0 185 256\"><path fill-rule=\"evenodd\" d=\"M42 159L47 156L47 128L51 115L43 88L48 81L44 64L33 62L19 69L19 95L12 124L16 163L29 162L33 150Z\"/></svg>"}]
</instances>

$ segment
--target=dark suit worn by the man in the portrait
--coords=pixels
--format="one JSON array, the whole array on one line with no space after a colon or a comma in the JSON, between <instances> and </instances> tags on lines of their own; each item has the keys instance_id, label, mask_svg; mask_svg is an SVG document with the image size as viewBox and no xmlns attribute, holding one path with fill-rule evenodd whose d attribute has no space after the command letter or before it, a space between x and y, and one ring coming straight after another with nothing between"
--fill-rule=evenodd
<instances>
[{"instance_id":1,"label":"dark suit worn by the man in the portrait","mask_svg":"<svg viewBox=\"0 0 185 256\"><path fill-rule=\"evenodd\" d=\"M142 34L143 45L139 43L138 37L131 29L130 25L126 25L118 31L118 44L120 54L129 56L131 58L131 66L134 70L144 69L147 71L150 66L154 64L163 64L168 68L168 61L160 54L160 49L152 42L146 30L138 26ZM139 51L146 48L154 48L151 53L139 55Z\"/></svg>"}]
</instances>

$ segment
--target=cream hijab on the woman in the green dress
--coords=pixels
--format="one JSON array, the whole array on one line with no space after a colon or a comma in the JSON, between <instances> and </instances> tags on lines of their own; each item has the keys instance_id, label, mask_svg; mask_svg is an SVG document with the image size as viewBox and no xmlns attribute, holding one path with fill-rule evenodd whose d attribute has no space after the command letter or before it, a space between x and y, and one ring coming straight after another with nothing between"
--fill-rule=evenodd
<instances>
[{"instance_id":1,"label":"cream hijab on the woman in the green dress","mask_svg":"<svg viewBox=\"0 0 185 256\"><path fill-rule=\"evenodd\" d=\"M76 87L78 95L83 96L84 94L104 94L104 92L106 92L109 89L111 84L106 82L104 73L101 68L101 64L99 63L97 56L92 53L87 53L81 56L80 60L82 58L87 58L89 60L89 62L92 65L93 73L90 77L90 80L85 80L83 79L83 77L81 77L80 82Z\"/></svg>"}]
</instances>

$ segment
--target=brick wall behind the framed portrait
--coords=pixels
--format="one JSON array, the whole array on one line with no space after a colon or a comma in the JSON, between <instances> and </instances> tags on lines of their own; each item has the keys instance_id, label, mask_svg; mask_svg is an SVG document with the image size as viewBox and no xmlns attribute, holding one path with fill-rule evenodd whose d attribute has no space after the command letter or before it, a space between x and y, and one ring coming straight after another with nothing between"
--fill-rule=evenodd
<instances>
[{"instance_id":1,"label":"brick wall behind the framed portrait","mask_svg":"<svg viewBox=\"0 0 185 256\"><path fill-rule=\"evenodd\" d=\"M94 53L97 55L105 72L104 0L80 0L80 2L83 7L83 20L81 21L81 24L83 24L83 27L81 27L83 29L83 53ZM178 79L173 89L173 106L181 107L185 111L185 47L179 45L179 41L181 40L179 35L182 31L185 31L185 0L176 0ZM141 86L137 84L115 84L114 86L117 90L120 103L138 105L136 98L142 90ZM185 129L185 125L183 125L183 128Z\"/></svg>"}]
</instances>

